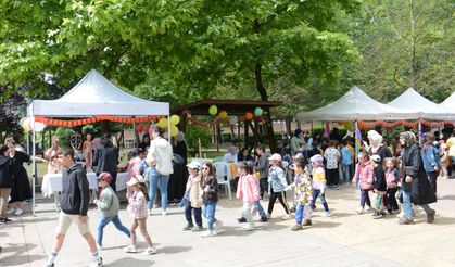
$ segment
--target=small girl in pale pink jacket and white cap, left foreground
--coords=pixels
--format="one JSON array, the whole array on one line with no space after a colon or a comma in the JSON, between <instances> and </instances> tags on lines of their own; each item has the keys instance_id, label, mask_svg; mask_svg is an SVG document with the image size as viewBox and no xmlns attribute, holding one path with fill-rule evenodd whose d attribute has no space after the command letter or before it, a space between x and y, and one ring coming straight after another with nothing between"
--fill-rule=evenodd
<instances>
[{"instance_id":1,"label":"small girl in pale pink jacket and white cap, left foreground","mask_svg":"<svg viewBox=\"0 0 455 267\"><path fill-rule=\"evenodd\" d=\"M149 247L143 252L146 255L151 255L156 253L156 247L153 245L152 240L150 239L149 232L147 231L147 201L149 196L147 195L146 181L141 176L132 177L126 183L130 192L128 192L128 207L127 211L135 218L130 228L131 234L131 244L125 247L127 253L136 253L137 243L136 243L136 229L139 227L142 237L146 239Z\"/></svg>"}]
</instances>

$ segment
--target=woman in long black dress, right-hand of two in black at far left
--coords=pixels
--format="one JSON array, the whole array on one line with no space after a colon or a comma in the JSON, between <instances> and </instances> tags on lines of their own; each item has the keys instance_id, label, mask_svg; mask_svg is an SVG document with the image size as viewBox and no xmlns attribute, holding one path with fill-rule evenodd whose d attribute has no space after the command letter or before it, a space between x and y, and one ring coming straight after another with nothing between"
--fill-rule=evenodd
<instances>
[{"instance_id":1,"label":"woman in long black dress, right-hand of two in black at far left","mask_svg":"<svg viewBox=\"0 0 455 267\"><path fill-rule=\"evenodd\" d=\"M13 185L11 187L11 200L9 202L11 208L8 211L8 214L18 216L24 213L21 208L22 203L33 198L27 170L24 167L24 163L30 162L30 156L22 151L17 151L16 142L13 139L9 139L7 145L9 155L13 158Z\"/></svg>"}]
</instances>

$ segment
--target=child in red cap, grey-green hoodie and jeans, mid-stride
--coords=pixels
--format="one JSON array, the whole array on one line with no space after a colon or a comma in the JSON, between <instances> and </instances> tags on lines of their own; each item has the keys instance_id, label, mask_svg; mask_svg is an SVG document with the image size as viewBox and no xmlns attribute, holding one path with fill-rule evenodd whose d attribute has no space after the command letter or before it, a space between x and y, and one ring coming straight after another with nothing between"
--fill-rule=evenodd
<instances>
[{"instance_id":1,"label":"child in red cap, grey-green hoodie and jeans, mid-stride","mask_svg":"<svg viewBox=\"0 0 455 267\"><path fill-rule=\"evenodd\" d=\"M128 228L122 225L121 218L118 217L121 205L114 190L109 186L111 180L112 176L109 173L101 173L98 177L98 186L101 188L101 193L100 199L94 200L94 204L101 214L97 227L97 246L99 251L102 250L103 229L111 221L115 228L130 238Z\"/></svg>"}]
</instances>

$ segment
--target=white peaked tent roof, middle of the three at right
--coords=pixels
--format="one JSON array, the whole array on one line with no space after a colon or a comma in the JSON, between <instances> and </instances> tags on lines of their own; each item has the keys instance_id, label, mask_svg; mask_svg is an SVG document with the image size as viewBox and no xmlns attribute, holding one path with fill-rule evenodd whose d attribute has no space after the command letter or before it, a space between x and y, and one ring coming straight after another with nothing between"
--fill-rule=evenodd
<instances>
[{"instance_id":1,"label":"white peaked tent roof, middle of the three at right","mask_svg":"<svg viewBox=\"0 0 455 267\"><path fill-rule=\"evenodd\" d=\"M454 119L455 112L442 107L424 98L413 88L408 88L388 105L396 109L406 109L419 114L419 117L426 119Z\"/></svg>"}]
</instances>

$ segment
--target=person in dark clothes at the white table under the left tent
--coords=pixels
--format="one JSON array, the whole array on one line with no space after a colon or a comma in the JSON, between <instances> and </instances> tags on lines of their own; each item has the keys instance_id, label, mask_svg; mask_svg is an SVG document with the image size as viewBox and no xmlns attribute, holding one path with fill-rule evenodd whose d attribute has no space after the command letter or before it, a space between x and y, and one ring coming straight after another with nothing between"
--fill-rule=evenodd
<instances>
[{"instance_id":1,"label":"person in dark clothes at the white table under the left tent","mask_svg":"<svg viewBox=\"0 0 455 267\"><path fill-rule=\"evenodd\" d=\"M117 192L118 149L111 141L111 134L106 132L101 138L101 145L94 152L93 166L97 166L97 174L109 173L112 176L111 188Z\"/></svg>"}]
</instances>

